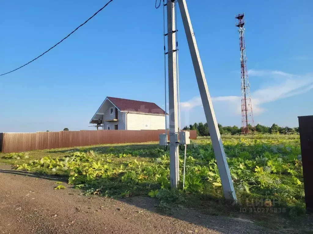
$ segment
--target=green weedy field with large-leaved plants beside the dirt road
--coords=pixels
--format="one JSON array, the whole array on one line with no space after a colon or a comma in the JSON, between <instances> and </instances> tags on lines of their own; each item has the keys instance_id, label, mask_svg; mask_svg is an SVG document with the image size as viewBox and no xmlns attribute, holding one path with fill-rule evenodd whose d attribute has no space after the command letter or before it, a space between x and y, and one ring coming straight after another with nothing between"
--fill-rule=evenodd
<instances>
[{"instance_id":1,"label":"green weedy field with large-leaved plants beside the dirt road","mask_svg":"<svg viewBox=\"0 0 313 234\"><path fill-rule=\"evenodd\" d=\"M223 135L222 139L240 202L236 206L223 199L208 137L193 140L187 146L186 183L183 189L180 183L179 190L170 190L169 152L156 142L30 151L15 158L0 154L0 162L15 165L16 169L65 176L86 194L113 198L151 196L162 206L183 202L210 214L238 214L240 208L251 207L255 212L264 208L258 217L304 214L298 135ZM182 151L180 155L183 158ZM181 178L182 165L180 160ZM255 216L255 212L248 210L246 214Z\"/></svg>"}]
</instances>

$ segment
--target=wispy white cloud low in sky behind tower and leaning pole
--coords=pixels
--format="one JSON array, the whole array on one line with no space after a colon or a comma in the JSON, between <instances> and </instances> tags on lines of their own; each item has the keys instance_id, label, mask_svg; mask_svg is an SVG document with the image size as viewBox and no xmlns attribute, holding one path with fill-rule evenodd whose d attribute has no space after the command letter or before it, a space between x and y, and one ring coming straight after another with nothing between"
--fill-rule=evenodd
<instances>
[{"instance_id":1,"label":"wispy white cloud low in sky behind tower and leaning pole","mask_svg":"<svg viewBox=\"0 0 313 234\"><path fill-rule=\"evenodd\" d=\"M270 71L270 70L249 70L251 76L268 76L264 88L257 89L251 93L252 108L254 115L258 115L265 111L262 104L273 102L279 99L300 95L313 89L313 74L304 76L292 75L283 71ZM279 82L274 83L271 79L273 76L279 76ZM238 115L241 112L241 97L240 96L218 96L211 97L213 106L227 110L229 115ZM202 106L200 96L193 97L192 99L181 102L182 110L190 111L192 108Z\"/></svg>"}]
</instances>

